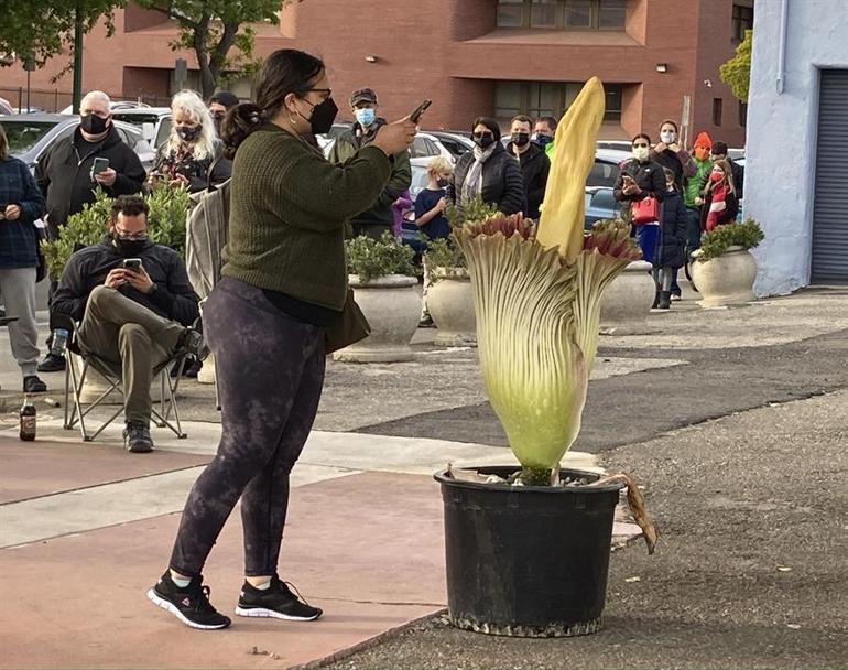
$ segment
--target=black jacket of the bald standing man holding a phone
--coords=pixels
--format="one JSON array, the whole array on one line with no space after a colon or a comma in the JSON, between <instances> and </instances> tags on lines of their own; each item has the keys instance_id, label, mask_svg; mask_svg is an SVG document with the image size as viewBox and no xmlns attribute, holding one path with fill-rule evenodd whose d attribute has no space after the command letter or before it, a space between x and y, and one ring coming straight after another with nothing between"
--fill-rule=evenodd
<instances>
[{"instance_id":1,"label":"black jacket of the bald standing man holding a phone","mask_svg":"<svg viewBox=\"0 0 848 670\"><path fill-rule=\"evenodd\" d=\"M95 202L97 182L90 174L95 158L109 159L109 168L118 173L115 184L104 186L112 197L140 193L146 176L138 154L121 140L113 126L94 150L79 150L81 139L77 128L73 136L53 144L35 166L35 181L47 199L51 239L58 237L59 227L72 214L81 212L86 203Z\"/></svg>"}]
</instances>

